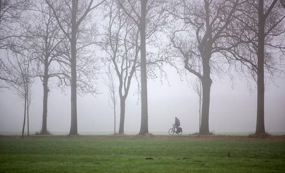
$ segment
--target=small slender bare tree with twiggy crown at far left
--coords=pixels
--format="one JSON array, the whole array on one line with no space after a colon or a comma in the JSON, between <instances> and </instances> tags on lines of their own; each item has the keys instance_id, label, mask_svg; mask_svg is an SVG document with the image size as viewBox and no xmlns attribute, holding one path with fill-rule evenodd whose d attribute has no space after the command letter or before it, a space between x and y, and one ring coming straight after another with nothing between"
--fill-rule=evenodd
<instances>
[{"instance_id":1,"label":"small slender bare tree with twiggy crown at far left","mask_svg":"<svg viewBox=\"0 0 285 173\"><path fill-rule=\"evenodd\" d=\"M14 59L9 60L8 66L12 70L10 71L10 80L6 82L8 82L10 88L18 95L19 99L24 101L24 121L22 128L22 137L24 137L26 117L28 116L27 114L29 114L29 106L32 99L31 87L34 80L30 76L30 63L24 55L14 54Z\"/></svg>"}]
</instances>

